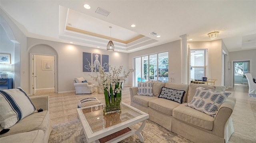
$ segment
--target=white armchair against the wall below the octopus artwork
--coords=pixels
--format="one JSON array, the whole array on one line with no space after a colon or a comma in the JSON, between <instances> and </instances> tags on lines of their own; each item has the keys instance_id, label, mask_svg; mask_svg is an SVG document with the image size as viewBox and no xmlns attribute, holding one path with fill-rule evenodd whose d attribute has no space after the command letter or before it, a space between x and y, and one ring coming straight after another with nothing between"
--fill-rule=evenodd
<instances>
[{"instance_id":1,"label":"white armchair against the wall below the octopus artwork","mask_svg":"<svg viewBox=\"0 0 256 143\"><path fill-rule=\"evenodd\" d=\"M74 87L76 94L92 94L96 90L95 84L92 84L92 81L85 81L83 77L75 78Z\"/></svg>"}]
</instances>

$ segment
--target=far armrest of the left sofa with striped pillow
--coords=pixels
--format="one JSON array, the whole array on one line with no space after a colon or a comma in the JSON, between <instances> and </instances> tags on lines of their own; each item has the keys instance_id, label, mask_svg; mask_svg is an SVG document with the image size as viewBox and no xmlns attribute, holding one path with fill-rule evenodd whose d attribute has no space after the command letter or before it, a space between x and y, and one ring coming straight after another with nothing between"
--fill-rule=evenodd
<instances>
[{"instance_id":1,"label":"far armrest of the left sofa with striped pillow","mask_svg":"<svg viewBox=\"0 0 256 143\"><path fill-rule=\"evenodd\" d=\"M43 110L49 111L49 96L33 96L29 97L31 102L34 104L36 109L42 108Z\"/></svg>"}]
</instances>

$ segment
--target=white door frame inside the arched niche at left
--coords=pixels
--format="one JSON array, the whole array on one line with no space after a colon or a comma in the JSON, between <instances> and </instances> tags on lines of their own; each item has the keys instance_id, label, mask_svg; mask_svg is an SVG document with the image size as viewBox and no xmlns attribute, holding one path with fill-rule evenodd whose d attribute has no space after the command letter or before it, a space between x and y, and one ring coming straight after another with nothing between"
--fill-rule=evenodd
<instances>
[{"instance_id":1,"label":"white door frame inside the arched niche at left","mask_svg":"<svg viewBox=\"0 0 256 143\"><path fill-rule=\"evenodd\" d=\"M32 89L32 84L33 84L33 77L32 77L32 59L33 55L42 55L42 56L53 56L54 57L54 92L58 93L58 80L57 80L57 55L50 55L50 54L41 54L41 53L30 53L30 95L33 95L33 89Z\"/></svg>"}]
</instances>

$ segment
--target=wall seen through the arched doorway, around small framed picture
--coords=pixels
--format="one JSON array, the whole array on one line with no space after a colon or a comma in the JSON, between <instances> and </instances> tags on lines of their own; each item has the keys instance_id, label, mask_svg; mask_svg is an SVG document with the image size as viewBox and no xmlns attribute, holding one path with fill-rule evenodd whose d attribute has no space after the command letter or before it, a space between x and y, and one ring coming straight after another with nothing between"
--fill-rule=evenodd
<instances>
[{"instance_id":1,"label":"wall seen through the arched doorway, around small framed picture","mask_svg":"<svg viewBox=\"0 0 256 143\"><path fill-rule=\"evenodd\" d=\"M45 55L36 55L36 90L44 88L54 88L54 57ZM42 69L42 60L52 61L52 70Z\"/></svg>"}]
</instances>

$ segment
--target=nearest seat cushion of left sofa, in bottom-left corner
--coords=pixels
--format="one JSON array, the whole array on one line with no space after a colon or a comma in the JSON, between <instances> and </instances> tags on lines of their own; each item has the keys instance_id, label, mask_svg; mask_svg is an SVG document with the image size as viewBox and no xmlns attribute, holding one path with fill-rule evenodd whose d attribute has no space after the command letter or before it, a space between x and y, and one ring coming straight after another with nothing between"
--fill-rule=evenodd
<instances>
[{"instance_id":1,"label":"nearest seat cushion of left sofa, in bottom-left corner","mask_svg":"<svg viewBox=\"0 0 256 143\"><path fill-rule=\"evenodd\" d=\"M44 132L42 130L17 133L0 138L1 143L44 143Z\"/></svg>"}]
</instances>

